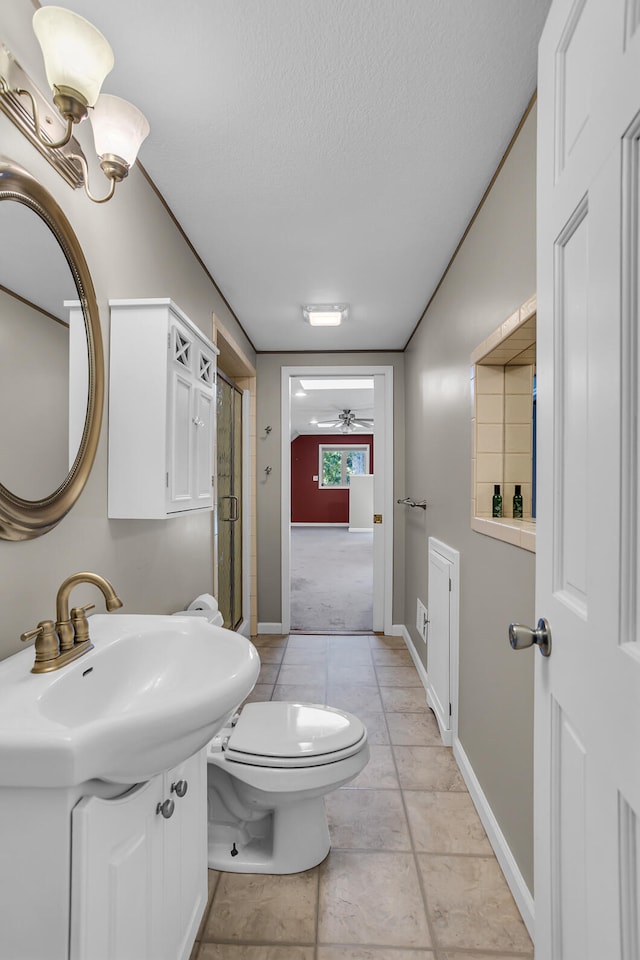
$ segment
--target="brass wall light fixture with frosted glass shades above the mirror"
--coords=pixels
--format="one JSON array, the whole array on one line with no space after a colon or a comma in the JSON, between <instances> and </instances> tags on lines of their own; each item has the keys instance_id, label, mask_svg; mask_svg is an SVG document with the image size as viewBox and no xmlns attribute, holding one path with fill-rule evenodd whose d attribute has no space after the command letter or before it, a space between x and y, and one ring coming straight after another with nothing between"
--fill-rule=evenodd
<instances>
[{"instance_id":1,"label":"brass wall light fixture with frosted glass shades above the mirror","mask_svg":"<svg viewBox=\"0 0 640 960\"><path fill-rule=\"evenodd\" d=\"M0 55L0 109L68 183L74 187L83 184L94 203L105 203L113 196L116 183L124 180L135 163L149 124L137 107L126 100L100 94L114 57L93 24L63 7L41 7L33 16L33 29L60 116L51 115L46 99L6 48ZM24 97L30 101L30 113L24 107ZM48 129L43 129L41 113ZM72 140L74 125L87 115L100 166L111 184L107 195L101 198L90 192L86 159L79 144ZM64 123L61 133L60 118ZM71 151L62 149L67 144Z\"/></svg>"}]
</instances>

